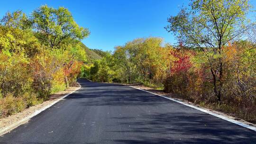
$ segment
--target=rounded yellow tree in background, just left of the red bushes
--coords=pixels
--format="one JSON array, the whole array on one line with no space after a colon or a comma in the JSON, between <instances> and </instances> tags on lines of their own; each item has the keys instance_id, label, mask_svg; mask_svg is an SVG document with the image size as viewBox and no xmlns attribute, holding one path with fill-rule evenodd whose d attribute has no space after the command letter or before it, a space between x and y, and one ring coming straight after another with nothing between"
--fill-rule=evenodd
<instances>
[{"instance_id":1,"label":"rounded yellow tree in background, just left of the red bushes","mask_svg":"<svg viewBox=\"0 0 256 144\"><path fill-rule=\"evenodd\" d=\"M164 75L164 71L167 70L168 60L165 58L167 58L168 48L163 47L162 38L138 38L128 42L125 48L131 63L136 65L144 82L147 80L158 81Z\"/></svg>"}]
</instances>

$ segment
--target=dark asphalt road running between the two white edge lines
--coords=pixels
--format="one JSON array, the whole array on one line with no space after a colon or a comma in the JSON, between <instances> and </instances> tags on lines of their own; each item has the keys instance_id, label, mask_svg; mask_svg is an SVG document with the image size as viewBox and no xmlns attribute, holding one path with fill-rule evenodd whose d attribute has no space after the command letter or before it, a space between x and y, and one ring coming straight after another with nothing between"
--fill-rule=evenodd
<instances>
[{"instance_id":1,"label":"dark asphalt road running between the two white edge lines","mask_svg":"<svg viewBox=\"0 0 256 144\"><path fill-rule=\"evenodd\" d=\"M0 144L256 144L256 132L172 100L107 83L82 88Z\"/></svg>"}]
</instances>

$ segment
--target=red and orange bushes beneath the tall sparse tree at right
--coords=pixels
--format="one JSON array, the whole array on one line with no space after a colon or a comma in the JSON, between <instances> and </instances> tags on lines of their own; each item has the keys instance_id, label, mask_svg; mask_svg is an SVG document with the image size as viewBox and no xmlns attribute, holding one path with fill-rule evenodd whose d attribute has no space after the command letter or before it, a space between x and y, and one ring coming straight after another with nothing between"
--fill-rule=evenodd
<instances>
[{"instance_id":1,"label":"red and orange bushes beneath the tall sparse tree at right","mask_svg":"<svg viewBox=\"0 0 256 144\"><path fill-rule=\"evenodd\" d=\"M243 43L242 43L243 44ZM201 106L231 113L249 122L256 122L256 50L249 44L234 44L224 48L222 97L213 91L210 66L200 53L176 50L165 92L179 94L183 99ZM184 52L185 51L185 52ZM217 80L217 88L219 81Z\"/></svg>"}]
</instances>

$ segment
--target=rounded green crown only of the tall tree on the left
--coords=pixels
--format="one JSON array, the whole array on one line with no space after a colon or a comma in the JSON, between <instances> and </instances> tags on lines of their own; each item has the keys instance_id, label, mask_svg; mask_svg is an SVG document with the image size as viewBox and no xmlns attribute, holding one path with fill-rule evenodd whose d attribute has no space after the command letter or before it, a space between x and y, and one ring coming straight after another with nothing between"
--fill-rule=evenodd
<instances>
[{"instance_id":1,"label":"rounded green crown only of the tall tree on the left","mask_svg":"<svg viewBox=\"0 0 256 144\"><path fill-rule=\"evenodd\" d=\"M41 6L32 13L33 26L37 38L51 48L61 48L72 40L81 40L89 36L87 28L79 27L68 9Z\"/></svg>"}]
</instances>

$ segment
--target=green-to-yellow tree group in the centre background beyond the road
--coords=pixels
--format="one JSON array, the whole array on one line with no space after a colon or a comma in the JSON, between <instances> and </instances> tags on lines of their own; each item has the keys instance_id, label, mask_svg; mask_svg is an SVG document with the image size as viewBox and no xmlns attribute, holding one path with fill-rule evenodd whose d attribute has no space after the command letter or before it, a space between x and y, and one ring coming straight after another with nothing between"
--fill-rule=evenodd
<instances>
[{"instance_id":1,"label":"green-to-yellow tree group in the centre background beyond the road","mask_svg":"<svg viewBox=\"0 0 256 144\"><path fill-rule=\"evenodd\" d=\"M100 52L102 59L90 67L90 78L101 82L146 82L161 85L166 77L170 46L158 37L139 38L116 46L113 54ZM95 50L94 50L95 51Z\"/></svg>"}]
</instances>

